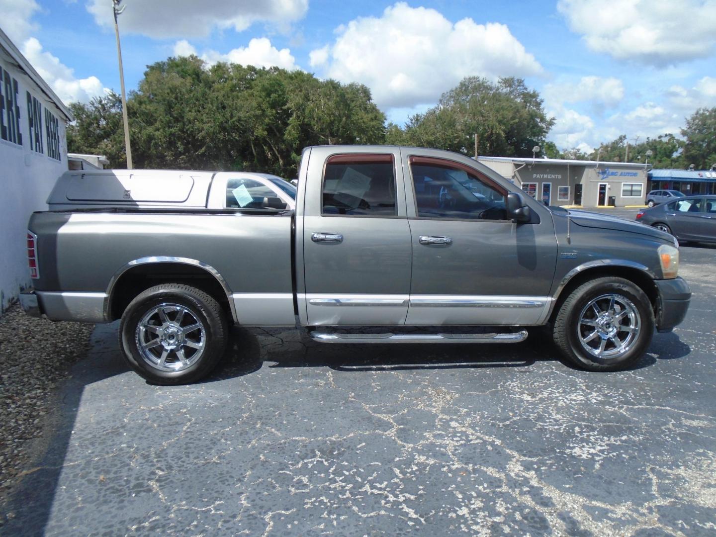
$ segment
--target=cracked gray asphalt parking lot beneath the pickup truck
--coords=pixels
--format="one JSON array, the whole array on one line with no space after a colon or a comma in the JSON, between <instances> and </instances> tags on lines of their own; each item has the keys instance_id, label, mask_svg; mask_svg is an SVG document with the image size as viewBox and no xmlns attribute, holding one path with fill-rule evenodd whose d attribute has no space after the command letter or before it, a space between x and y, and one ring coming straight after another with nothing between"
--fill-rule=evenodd
<instances>
[{"instance_id":1,"label":"cracked gray asphalt parking lot beneath the pickup truck","mask_svg":"<svg viewBox=\"0 0 716 537\"><path fill-rule=\"evenodd\" d=\"M636 210L603 212L634 218ZM241 329L211 379L147 384L97 326L7 535L713 535L716 248L627 372L514 345L314 344Z\"/></svg>"}]
</instances>

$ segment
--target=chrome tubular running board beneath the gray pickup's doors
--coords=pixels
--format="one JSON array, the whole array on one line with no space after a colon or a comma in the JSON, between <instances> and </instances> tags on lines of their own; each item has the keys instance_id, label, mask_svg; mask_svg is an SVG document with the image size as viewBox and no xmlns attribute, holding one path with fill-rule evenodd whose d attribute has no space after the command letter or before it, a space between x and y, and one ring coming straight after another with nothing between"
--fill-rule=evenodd
<instances>
[{"instance_id":1,"label":"chrome tubular running board beneath the gray pickup's doors","mask_svg":"<svg viewBox=\"0 0 716 537\"><path fill-rule=\"evenodd\" d=\"M339 334L311 332L311 339L320 343L519 343L527 339L527 331L502 334Z\"/></svg>"}]
</instances>

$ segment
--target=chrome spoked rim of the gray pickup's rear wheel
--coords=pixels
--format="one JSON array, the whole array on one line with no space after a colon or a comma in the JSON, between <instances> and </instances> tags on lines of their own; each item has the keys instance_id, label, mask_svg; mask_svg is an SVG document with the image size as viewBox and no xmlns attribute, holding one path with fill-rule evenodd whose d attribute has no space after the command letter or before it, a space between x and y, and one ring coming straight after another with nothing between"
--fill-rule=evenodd
<instances>
[{"instance_id":1,"label":"chrome spoked rim of the gray pickup's rear wheel","mask_svg":"<svg viewBox=\"0 0 716 537\"><path fill-rule=\"evenodd\" d=\"M183 371L204 354L206 329L196 314L180 304L159 304L137 324L137 349L155 369Z\"/></svg>"}]
</instances>

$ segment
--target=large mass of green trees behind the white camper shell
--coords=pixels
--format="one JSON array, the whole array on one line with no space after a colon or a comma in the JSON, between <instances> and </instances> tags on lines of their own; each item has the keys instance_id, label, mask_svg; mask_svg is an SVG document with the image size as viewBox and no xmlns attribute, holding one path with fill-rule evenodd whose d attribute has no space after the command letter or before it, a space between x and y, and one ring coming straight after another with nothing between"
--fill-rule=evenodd
<instances>
[{"instance_id":1,"label":"large mass of green trees behind the white camper shell","mask_svg":"<svg viewBox=\"0 0 716 537\"><path fill-rule=\"evenodd\" d=\"M116 95L73 105L72 150L104 153L123 165ZM319 80L302 71L169 58L147 67L130 92L137 168L254 170L294 176L307 145L375 144L385 116L362 84Z\"/></svg>"}]
</instances>

